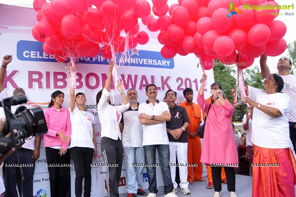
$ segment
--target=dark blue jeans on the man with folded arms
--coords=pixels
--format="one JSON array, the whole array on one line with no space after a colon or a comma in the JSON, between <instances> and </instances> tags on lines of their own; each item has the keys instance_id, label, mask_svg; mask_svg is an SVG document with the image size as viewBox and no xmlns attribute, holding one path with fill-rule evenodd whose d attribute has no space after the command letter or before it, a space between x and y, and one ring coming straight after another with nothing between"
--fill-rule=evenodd
<instances>
[{"instance_id":1,"label":"dark blue jeans on the man with folded arms","mask_svg":"<svg viewBox=\"0 0 296 197\"><path fill-rule=\"evenodd\" d=\"M145 161L146 164L156 164L156 148L158 152L158 158L160 163L160 169L163 176L164 190L163 193L166 195L173 192L173 182L170 176L170 148L169 145L157 144L157 145L146 145L143 146L145 150ZM149 182L148 190L150 193L157 193L158 190L156 182L156 167L146 167L147 177Z\"/></svg>"}]
</instances>

